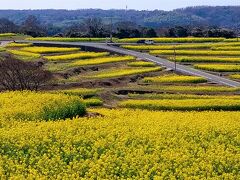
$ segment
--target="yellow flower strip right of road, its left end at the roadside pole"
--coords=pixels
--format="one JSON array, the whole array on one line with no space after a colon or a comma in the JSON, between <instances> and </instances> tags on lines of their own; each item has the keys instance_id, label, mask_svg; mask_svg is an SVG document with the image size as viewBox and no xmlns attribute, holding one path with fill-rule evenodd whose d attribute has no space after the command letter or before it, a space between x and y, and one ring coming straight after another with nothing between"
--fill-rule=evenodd
<instances>
[{"instance_id":1,"label":"yellow flower strip right of road, its left end at the roadside pole","mask_svg":"<svg viewBox=\"0 0 240 180\"><path fill-rule=\"evenodd\" d=\"M170 60L174 61L175 58L170 57ZM239 63L238 57L212 57L212 56L177 56L178 62L219 62L219 63Z\"/></svg>"}]
</instances>

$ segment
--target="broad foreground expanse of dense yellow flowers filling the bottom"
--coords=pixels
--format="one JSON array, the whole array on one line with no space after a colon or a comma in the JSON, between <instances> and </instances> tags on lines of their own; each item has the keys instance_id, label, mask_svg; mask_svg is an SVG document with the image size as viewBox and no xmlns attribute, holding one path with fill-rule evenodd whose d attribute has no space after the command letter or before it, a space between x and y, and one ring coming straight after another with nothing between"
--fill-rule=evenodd
<instances>
[{"instance_id":1,"label":"broad foreground expanse of dense yellow flowers filling the bottom","mask_svg":"<svg viewBox=\"0 0 240 180\"><path fill-rule=\"evenodd\" d=\"M95 110L0 131L1 179L239 179L239 112Z\"/></svg>"}]
</instances>

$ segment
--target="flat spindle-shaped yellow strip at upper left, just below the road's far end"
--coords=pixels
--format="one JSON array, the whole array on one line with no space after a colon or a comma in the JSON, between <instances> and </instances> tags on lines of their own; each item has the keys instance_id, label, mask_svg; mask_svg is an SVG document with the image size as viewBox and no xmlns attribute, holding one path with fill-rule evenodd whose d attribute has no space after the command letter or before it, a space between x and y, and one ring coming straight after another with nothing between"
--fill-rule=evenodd
<instances>
[{"instance_id":1,"label":"flat spindle-shaped yellow strip at upper left, just below the road's far end","mask_svg":"<svg viewBox=\"0 0 240 180\"><path fill-rule=\"evenodd\" d=\"M47 54L47 53L64 53L79 51L80 48L61 48L61 47L25 47L21 51L27 51L31 53Z\"/></svg>"}]
</instances>

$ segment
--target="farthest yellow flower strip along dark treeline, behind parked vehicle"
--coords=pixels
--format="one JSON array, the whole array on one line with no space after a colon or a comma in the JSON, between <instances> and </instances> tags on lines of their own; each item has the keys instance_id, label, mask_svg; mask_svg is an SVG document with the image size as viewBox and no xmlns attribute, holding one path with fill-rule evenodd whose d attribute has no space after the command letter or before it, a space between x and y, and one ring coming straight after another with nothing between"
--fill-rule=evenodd
<instances>
[{"instance_id":1,"label":"farthest yellow flower strip along dark treeline, behind parked vehicle","mask_svg":"<svg viewBox=\"0 0 240 180\"><path fill-rule=\"evenodd\" d=\"M223 42L225 38L125 38L117 42L136 43L139 40L153 40L157 43L201 43L201 42Z\"/></svg>"}]
</instances>

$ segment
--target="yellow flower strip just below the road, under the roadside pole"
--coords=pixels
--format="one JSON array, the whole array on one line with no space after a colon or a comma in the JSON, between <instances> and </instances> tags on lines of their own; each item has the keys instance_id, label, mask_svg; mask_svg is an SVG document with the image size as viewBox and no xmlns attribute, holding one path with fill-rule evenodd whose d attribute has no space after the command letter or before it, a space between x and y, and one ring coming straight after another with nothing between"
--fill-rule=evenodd
<instances>
[{"instance_id":1,"label":"yellow flower strip just below the road, under the roadside pole","mask_svg":"<svg viewBox=\"0 0 240 180\"><path fill-rule=\"evenodd\" d=\"M184 76L170 74L157 77L145 77L143 79L145 83L204 83L207 82L205 78L198 76Z\"/></svg>"}]
</instances>

